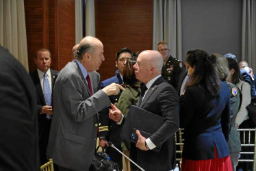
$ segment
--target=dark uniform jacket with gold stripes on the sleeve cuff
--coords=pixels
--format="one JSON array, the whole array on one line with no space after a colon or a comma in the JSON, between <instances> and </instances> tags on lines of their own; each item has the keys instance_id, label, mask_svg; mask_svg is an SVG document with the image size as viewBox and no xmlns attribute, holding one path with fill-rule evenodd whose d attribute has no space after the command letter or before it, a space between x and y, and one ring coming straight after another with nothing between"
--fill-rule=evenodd
<instances>
[{"instance_id":1,"label":"dark uniform jacket with gold stripes on the sleeve cuff","mask_svg":"<svg viewBox=\"0 0 256 171\"><path fill-rule=\"evenodd\" d=\"M110 79L106 79L101 82L101 89L109 86L111 83L118 83L122 84L123 80L121 79L119 73ZM117 95L109 96L111 103L117 105L120 94L122 91L119 92ZM120 139L120 131L121 126L116 124L114 120L111 120L108 117L109 111L108 109L104 109L101 111L99 115L99 122L101 125L99 126L99 134L101 137L106 137L108 141L111 141L115 146L121 146L121 139Z\"/></svg>"}]
</instances>

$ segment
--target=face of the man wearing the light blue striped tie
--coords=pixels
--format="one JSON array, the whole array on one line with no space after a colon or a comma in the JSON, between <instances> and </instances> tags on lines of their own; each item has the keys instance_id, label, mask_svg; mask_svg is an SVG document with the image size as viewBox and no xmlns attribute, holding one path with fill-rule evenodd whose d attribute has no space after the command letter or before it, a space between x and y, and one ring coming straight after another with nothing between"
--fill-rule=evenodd
<instances>
[{"instance_id":1,"label":"face of the man wearing the light blue striped tie","mask_svg":"<svg viewBox=\"0 0 256 171\"><path fill-rule=\"evenodd\" d=\"M49 51L39 51L34 61L38 67L38 70L46 73L51 66L51 56Z\"/></svg>"}]
</instances>

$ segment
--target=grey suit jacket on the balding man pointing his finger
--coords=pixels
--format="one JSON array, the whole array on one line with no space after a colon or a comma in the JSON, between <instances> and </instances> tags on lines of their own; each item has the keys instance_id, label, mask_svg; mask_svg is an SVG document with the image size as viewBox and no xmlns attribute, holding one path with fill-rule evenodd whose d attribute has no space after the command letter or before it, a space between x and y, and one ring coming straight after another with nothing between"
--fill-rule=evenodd
<instances>
[{"instance_id":1,"label":"grey suit jacket on the balding man pointing his finger","mask_svg":"<svg viewBox=\"0 0 256 171\"><path fill-rule=\"evenodd\" d=\"M94 94L77 62L68 62L57 76L54 90L54 117L47 155L54 163L71 170L88 170L94 156L97 113L110 106L110 99L100 89L100 76L89 73Z\"/></svg>"}]
</instances>

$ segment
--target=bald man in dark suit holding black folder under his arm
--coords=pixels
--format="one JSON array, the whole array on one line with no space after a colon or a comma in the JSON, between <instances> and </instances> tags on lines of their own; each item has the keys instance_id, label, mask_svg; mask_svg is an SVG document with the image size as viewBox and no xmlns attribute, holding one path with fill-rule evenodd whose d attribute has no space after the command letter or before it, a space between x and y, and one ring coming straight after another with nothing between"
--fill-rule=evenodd
<instances>
[{"instance_id":1,"label":"bald man in dark suit holding black folder under his arm","mask_svg":"<svg viewBox=\"0 0 256 171\"><path fill-rule=\"evenodd\" d=\"M143 51L133 66L136 79L142 81L138 107L162 116L164 124L149 138L138 135L137 163L144 170L172 170L176 164L175 133L179 129L179 98L173 88L161 75L164 61L157 51ZM112 105L110 118L122 124L125 122L120 110ZM159 152L153 149L162 146Z\"/></svg>"}]
</instances>

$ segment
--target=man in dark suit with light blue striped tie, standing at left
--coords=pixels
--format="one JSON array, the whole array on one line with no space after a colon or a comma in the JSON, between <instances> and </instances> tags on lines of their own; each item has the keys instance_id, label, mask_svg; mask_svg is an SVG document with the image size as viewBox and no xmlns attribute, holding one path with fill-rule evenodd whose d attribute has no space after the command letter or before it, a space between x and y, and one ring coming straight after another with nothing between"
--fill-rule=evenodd
<instances>
[{"instance_id":1,"label":"man in dark suit with light blue striped tie, standing at left","mask_svg":"<svg viewBox=\"0 0 256 171\"><path fill-rule=\"evenodd\" d=\"M48 49L39 49L36 52L34 62L36 63L37 70L30 73L30 76L36 87L38 97L39 151L40 164L43 165L47 162L46 151L51 129L51 118L53 115L51 94L58 72L50 68L51 53ZM48 96L47 93L49 94Z\"/></svg>"}]
</instances>

